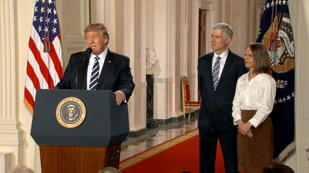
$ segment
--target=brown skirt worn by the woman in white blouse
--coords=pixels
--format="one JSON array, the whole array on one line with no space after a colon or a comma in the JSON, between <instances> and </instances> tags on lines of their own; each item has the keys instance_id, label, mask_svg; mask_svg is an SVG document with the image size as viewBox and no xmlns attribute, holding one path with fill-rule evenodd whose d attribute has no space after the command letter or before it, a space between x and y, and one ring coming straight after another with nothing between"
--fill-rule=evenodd
<instances>
[{"instance_id":1,"label":"brown skirt worn by the woman in white blouse","mask_svg":"<svg viewBox=\"0 0 309 173\"><path fill-rule=\"evenodd\" d=\"M241 110L241 117L248 122L257 110ZM257 128L251 127L252 138L237 134L238 171L261 173L273 160L273 124L267 117Z\"/></svg>"}]
</instances>

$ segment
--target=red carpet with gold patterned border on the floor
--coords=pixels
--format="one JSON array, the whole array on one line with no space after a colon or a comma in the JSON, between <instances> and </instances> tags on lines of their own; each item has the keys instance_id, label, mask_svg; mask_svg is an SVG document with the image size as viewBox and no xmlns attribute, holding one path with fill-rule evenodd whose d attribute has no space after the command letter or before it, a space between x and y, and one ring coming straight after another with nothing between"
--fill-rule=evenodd
<instances>
[{"instance_id":1,"label":"red carpet with gold patterned border on the floor","mask_svg":"<svg viewBox=\"0 0 309 173\"><path fill-rule=\"evenodd\" d=\"M119 170L122 173L199 172L198 148L198 130L195 129L121 161ZM225 172L219 142L217 145L216 172Z\"/></svg>"}]
</instances>

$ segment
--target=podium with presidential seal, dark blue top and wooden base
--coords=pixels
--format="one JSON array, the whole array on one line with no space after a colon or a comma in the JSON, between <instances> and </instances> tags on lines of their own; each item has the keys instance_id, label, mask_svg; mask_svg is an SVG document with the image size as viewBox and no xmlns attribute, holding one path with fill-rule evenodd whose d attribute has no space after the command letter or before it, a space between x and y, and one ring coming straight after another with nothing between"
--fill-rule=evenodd
<instances>
[{"instance_id":1,"label":"podium with presidential seal, dark blue top and wooden base","mask_svg":"<svg viewBox=\"0 0 309 173\"><path fill-rule=\"evenodd\" d=\"M128 107L118 106L112 91L36 91L30 134L40 146L42 173L119 169L128 133Z\"/></svg>"}]
</instances>

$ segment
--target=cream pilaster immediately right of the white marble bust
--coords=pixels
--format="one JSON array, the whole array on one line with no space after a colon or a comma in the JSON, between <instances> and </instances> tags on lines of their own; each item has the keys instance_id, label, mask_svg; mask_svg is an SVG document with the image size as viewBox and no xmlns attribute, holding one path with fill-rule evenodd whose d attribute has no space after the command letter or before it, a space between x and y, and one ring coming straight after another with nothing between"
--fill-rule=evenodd
<instances>
[{"instance_id":1,"label":"cream pilaster immediately right of the white marble bust","mask_svg":"<svg viewBox=\"0 0 309 173\"><path fill-rule=\"evenodd\" d=\"M168 45L167 45L167 12L168 1L157 0L154 4L154 49L157 57L156 64L152 67L154 73L154 119L168 119L168 92L169 78ZM151 14L150 14L151 15ZM151 46L151 45L149 45Z\"/></svg>"}]
</instances>

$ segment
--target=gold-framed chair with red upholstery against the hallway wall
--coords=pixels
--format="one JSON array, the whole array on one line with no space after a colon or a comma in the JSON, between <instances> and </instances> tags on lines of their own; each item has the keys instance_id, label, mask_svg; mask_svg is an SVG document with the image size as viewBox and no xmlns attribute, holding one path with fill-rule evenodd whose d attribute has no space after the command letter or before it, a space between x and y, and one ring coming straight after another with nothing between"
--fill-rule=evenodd
<instances>
[{"instance_id":1,"label":"gold-framed chair with red upholstery against the hallway wall","mask_svg":"<svg viewBox=\"0 0 309 173\"><path fill-rule=\"evenodd\" d=\"M200 101L190 101L190 87L189 80L185 76L181 82L182 84L182 92L183 92L183 118L186 117L186 109L189 109L189 117L191 116L191 109L200 109L201 102Z\"/></svg>"}]
</instances>

